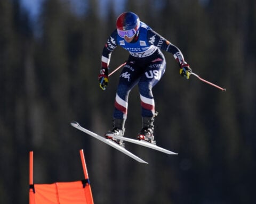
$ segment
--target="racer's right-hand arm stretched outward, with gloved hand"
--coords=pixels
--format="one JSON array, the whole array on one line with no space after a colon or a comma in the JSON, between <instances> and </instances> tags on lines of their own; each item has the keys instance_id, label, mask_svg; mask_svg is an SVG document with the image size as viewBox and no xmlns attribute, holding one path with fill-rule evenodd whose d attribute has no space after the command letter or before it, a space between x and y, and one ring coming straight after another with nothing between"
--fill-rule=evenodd
<instances>
[{"instance_id":1,"label":"racer's right-hand arm stretched outward, with gloved hand","mask_svg":"<svg viewBox=\"0 0 256 204\"><path fill-rule=\"evenodd\" d=\"M164 37L162 37L152 29L148 30L148 41L152 45L155 45L162 50L172 53L173 57L180 66L180 74L183 77L189 79L189 75L192 70L190 69L188 63L184 60L183 54L177 46L171 44L170 41L166 40Z\"/></svg>"}]
</instances>

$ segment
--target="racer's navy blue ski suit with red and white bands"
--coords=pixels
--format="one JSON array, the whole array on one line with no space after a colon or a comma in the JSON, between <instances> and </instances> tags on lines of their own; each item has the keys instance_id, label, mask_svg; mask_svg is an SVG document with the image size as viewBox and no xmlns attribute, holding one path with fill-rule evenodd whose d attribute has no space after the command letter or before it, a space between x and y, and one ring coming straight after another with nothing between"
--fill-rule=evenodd
<instances>
[{"instance_id":1,"label":"racer's navy blue ski suit with red and white bands","mask_svg":"<svg viewBox=\"0 0 256 204\"><path fill-rule=\"evenodd\" d=\"M155 100L152 88L162 78L166 67L165 57L161 50L172 53L181 65L186 62L180 49L156 33L146 23L140 22L139 35L135 36L131 43L127 43L124 38L118 36L116 29L111 33L103 48L102 69L108 69L111 53L117 46L123 47L130 55L119 76L113 117L118 119L127 117L129 93L137 84L140 92L141 116L153 117Z\"/></svg>"}]
</instances>

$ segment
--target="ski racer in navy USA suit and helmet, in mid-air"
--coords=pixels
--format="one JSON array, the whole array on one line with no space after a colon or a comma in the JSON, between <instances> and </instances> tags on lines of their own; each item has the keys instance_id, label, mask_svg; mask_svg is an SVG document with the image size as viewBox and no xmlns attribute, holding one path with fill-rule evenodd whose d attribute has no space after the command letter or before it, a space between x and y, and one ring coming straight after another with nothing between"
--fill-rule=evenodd
<instances>
[{"instance_id":1,"label":"ski racer in navy USA suit and helmet, in mid-air","mask_svg":"<svg viewBox=\"0 0 256 204\"><path fill-rule=\"evenodd\" d=\"M108 70L111 53L117 46L123 47L130 55L119 78L113 114L113 129L105 134L119 145L123 141L112 138L114 135L123 137L127 117L128 97L131 89L138 84L141 101L142 129L138 133L139 140L150 143L154 141L155 100L152 88L162 78L166 61L161 50L172 53L180 67L180 74L189 79L191 69L181 50L163 38L146 23L140 21L137 14L124 12L118 16L116 29L111 33L101 57L99 74L100 88L105 90L108 85Z\"/></svg>"}]
</instances>

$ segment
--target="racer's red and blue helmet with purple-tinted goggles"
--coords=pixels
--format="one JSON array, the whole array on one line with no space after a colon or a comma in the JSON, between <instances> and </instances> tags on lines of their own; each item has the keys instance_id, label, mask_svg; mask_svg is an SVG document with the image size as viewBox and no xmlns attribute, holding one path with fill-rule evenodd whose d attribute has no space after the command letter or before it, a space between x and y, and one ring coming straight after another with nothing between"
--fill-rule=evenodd
<instances>
[{"instance_id":1,"label":"racer's red and blue helmet with purple-tinted goggles","mask_svg":"<svg viewBox=\"0 0 256 204\"><path fill-rule=\"evenodd\" d=\"M117 33L121 38L133 37L139 33L140 19L133 12L124 12L116 20Z\"/></svg>"}]
</instances>

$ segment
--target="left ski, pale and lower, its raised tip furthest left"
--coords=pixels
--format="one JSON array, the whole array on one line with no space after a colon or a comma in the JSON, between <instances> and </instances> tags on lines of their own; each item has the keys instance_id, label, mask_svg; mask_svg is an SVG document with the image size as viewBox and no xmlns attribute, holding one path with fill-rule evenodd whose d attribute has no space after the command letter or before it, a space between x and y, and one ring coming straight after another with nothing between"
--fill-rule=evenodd
<instances>
[{"instance_id":1,"label":"left ski, pale and lower, its raised tip furthest left","mask_svg":"<svg viewBox=\"0 0 256 204\"><path fill-rule=\"evenodd\" d=\"M85 128L83 128L81 125L79 125L79 123L77 123L76 121L73 121L70 123L74 128L78 129L78 130L81 130L83 132L85 132L86 134L89 134L91 135L92 137L106 143L107 145L117 149L118 151L121 151L123 152L125 155L137 160L138 162L140 163L144 163L144 164L148 164L147 162L145 162L143 159L139 158L138 156L132 154L132 152L128 151L127 149L125 149L124 147L121 147L119 146L116 142L110 140L110 139L106 139L106 138L103 138L102 136L94 133L94 132L91 132L90 130L87 130Z\"/></svg>"}]
</instances>

